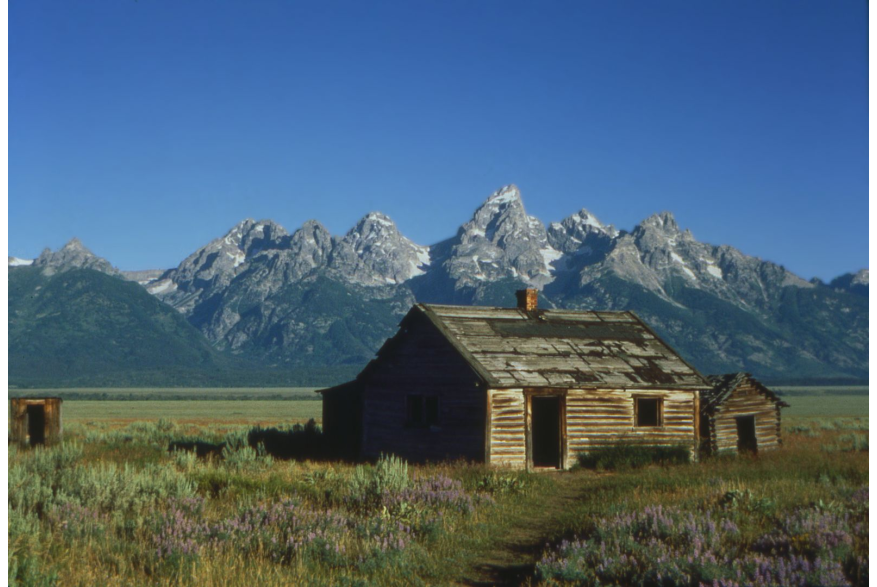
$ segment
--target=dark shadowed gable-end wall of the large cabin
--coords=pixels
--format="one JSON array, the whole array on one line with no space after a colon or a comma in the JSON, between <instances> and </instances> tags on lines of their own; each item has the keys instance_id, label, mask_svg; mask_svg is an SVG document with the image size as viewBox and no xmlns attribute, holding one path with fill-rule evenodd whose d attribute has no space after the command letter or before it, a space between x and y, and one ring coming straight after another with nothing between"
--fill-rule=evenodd
<instances>
[{"instance_id":1,"label":"dark shadowed gable-end wall of the large cabin","mask_svg":"<svg viewBox=\"0 0 877 587\"><path fill-rule=\"evenodd\" d=\"M426 319L408 321L368 369L363 391L363 456L412 462L484 462L487 390ZM439 423L407 425L408 396L437 397Z\"/></svg>"}]
</instances>

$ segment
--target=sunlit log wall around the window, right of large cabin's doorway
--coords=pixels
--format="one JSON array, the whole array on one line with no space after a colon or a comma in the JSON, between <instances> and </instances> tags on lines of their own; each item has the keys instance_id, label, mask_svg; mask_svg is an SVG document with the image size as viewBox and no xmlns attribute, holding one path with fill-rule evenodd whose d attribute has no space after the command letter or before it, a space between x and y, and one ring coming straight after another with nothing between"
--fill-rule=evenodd
<instances>
[{"instance_id":1,"label":"sunlit log wall around the window, right of large cabin's doorway","mask_svg":"<svg viewBox=\"0 0 877 587\"><path fill-rule=\"evenodd\" d=\"M663 400L663 426L636 426L636 398ZM595 448L623 443L690 445L696 442L696 393L692 391L570 391L566 399L567 463Z\"/></svg>"}]
</instances>

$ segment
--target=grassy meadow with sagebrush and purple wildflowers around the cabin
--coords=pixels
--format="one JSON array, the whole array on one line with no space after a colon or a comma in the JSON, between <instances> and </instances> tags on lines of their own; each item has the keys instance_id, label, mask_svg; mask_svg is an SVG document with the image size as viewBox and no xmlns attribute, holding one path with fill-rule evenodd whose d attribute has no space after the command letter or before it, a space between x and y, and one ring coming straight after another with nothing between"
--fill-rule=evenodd
<instances>
[{"instance_id":1,"label":"grassy meadow with sagebrush and purple wildflowers around the cabin","mask_svg":"<svg viewBox=\"0 0 877 587\"><path fill-rule=\"evenodd\" d=\"M867 396L790 398L758 458L539 475L283 460L248 432L320 404L221 396L67 401L62 446L10 446L8 585L870 584Z\"/></svg>"}]
</instances>

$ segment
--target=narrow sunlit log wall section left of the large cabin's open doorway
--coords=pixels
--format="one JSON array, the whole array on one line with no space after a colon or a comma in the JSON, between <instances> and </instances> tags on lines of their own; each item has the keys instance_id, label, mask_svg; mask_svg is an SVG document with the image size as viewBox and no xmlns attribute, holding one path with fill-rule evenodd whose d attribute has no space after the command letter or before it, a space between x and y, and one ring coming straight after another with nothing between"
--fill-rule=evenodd
<instances>
[{"instance_id":1,"label":"narrow sunlit log wall section left of the large cabin's open doorway","mask_svg":"<svg viewBox=\"0 0 877 587\"><path fill-rule=\"evenodd\" d=\"M527 419L524 390L490 392L489 464L527 467Z\"/></svg>"}]
</instances>

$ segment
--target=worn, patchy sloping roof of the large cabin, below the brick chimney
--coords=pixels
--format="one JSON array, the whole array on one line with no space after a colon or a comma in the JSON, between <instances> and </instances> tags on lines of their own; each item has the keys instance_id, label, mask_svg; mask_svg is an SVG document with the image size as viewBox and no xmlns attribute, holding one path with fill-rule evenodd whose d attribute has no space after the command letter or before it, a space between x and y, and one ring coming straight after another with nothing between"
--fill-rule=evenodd
<instances>
[{"instance_id":1,"label":"worn, patchy sloping roof of the large cabin, below the brick chimney","mask_svg":"<svg viewBox=\"0 0 877 587\"><path fill-rule=\"evenodd\" d=\"M497 389L710 387L630 312L525 312L433 305L418 309Z\"/></svg>"}]
</instances>

